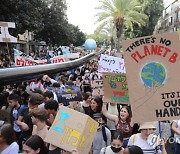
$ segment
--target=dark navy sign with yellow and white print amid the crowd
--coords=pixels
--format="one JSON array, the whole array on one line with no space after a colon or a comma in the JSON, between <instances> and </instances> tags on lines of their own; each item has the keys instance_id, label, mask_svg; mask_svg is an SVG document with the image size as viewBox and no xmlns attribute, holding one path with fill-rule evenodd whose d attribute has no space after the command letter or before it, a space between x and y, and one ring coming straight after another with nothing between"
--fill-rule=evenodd
<instances>
[{"instance_id":1,"label":"dark navy sign with yellow and white print amid the crowd","mask_svg":"<svg viewBox=\"0 0 180 154\"><path fill-rule=\"evenodd\" d=\"M66 86L65 91L57 90L57 97L59 102L82 101L81 89L78 86Z\"/></svg>"}]
</instances>

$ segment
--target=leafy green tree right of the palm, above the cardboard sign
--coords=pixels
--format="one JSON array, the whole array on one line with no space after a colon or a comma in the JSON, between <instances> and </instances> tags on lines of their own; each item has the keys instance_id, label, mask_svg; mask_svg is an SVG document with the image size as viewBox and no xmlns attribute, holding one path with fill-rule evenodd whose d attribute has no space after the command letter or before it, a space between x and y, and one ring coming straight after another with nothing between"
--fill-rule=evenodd
<instances>
[{"instance_id":1,"label":"leafy green tree right of the palm, above the cardboard sign","mask_svg":"<svg viewBox=\"0 0 180 154\"><path fill-rule=\"evenodd\" d=\"M146 25L138 27L136 23L133 24L133 29L126 28L125 38L136 38L147 35L152 35L155 25L163 11L163 0L139 0L143 3L142 11L149 17Z\"/></svg>"}]
</instances>

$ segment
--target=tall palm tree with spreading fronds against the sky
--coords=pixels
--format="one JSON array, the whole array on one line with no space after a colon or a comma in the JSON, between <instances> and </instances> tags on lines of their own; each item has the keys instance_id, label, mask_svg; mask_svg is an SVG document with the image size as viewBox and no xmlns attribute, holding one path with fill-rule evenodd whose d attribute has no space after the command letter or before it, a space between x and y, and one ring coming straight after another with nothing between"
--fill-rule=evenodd
<instances>
[{"instance_id":1,"label":"tall palm tree with spreading fronds against the sky","mask_svg":"<svg viewBox=\"0 0 180 154\"><path fill-rule=\"evenodd\" d=\"M117 35L117 51L120 51L120 37L123 33L123 27L133 29L133 23L142 26L146 24L148 17L142 13L142 5L138 0L99 0L100 7L96 9L99 12L97 22L99 27L113 22Z\"/></svg>"}]
</instances>

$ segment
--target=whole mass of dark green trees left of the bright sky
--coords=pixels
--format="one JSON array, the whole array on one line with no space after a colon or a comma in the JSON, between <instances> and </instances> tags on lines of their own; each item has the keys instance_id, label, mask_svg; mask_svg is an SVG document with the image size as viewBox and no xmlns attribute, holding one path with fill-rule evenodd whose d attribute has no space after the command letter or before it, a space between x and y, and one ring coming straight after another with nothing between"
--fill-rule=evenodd
<instances>
[{"instance_id":1,"label":"whole mass of dark green trees left of the bright sky","mask_svg":"<svg viewBox=\"0 0 180 154\"><path fill-rule=\"evenodd\" d=\"M16 23L14 36L28 30L47 44L82 45L85 35L68 23L66 9L64 0L1 0L0 21Z\"/></svg>"}]
</instances>

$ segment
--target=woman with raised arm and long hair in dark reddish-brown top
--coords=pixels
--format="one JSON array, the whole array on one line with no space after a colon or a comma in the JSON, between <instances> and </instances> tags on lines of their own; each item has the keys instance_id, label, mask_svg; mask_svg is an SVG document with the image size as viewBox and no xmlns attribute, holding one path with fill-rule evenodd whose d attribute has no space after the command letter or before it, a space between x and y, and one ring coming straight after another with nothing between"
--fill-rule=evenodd
<instances>
[{"instance_id":1,"label":"woman with raised arm and long hair in dark reddish-brown top","mask_svg":"<svg viewBox=\"0 0 180 154\"><path fill-rule=\"evenodd\" d=\"M102 107L102 113L106 118L109 120L112 120L116 124L116 130L123 133L124 140L123 140L123 147L127 146L128 140L130 136L132 135L132 124L131 124L131 118L132 118L132 112L130 107L124 106L121 108L119 115L112 115L108 113L106 109L106 102L103 101L103 107Z\"/></svg>"}]
</instances>

